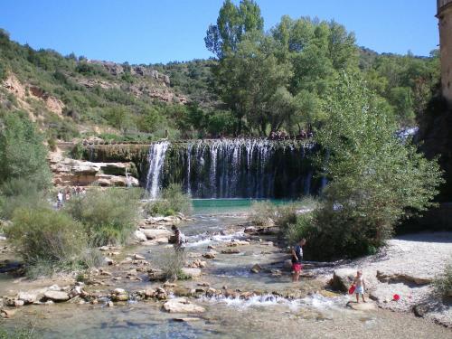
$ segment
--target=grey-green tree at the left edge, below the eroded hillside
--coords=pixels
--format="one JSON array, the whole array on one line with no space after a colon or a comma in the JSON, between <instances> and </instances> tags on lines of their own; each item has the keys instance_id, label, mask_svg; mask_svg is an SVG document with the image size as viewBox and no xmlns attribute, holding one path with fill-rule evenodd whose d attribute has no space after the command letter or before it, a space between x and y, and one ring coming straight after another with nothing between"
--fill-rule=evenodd
<instances>
[{"instance_id":1,"label":"grey-green tree at the left edge, below the eroded hillside","mask_svg":"<svg viewBox=\"0 0 452 339\"><path fill-rule=\"evenodd\" d=\"M0 123L0 183L22 178L47 187L51 178L47 149L33 123L19 113L6 113Z\"/></svg>"}]
</instances>

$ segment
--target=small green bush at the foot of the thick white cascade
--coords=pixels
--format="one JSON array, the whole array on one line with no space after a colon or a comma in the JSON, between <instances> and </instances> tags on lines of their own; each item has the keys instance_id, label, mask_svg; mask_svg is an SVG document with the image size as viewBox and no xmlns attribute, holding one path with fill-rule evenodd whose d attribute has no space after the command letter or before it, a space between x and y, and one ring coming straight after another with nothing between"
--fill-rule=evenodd
<instances>
[{"instance_id":1,"label":"small green bush at the foot of the thick white cascade","mask_svg":"<svg viewBox=\"0 0 452 339\"><path fill-rule=\"evenodd\" d=\"M146 203L144 212L146 216L167 216L178 212L187 215L192 212L192 202L188 194L183 193L180 184L170 184L162 192L161 200Z\"/></svg>"}]
</instances>

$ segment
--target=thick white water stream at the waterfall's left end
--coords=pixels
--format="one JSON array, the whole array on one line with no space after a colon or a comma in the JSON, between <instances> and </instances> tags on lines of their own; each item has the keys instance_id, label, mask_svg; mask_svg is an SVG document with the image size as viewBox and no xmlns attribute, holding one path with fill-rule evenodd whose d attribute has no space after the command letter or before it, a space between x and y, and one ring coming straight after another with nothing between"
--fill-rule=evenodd
<instances>
[{"instance_id":1,"label":"thick white water stream at the waterfall's left end","mask_svg":"<svg viewBox=\"0 0 452 339\"><path fill-rule=\"evenodd\" d=\"M153 199L157 197L160 189L160 176L163 172L168 146L169 143L167 141L155 143L149 148L149 154L147 155L149 170L146 176L146 191L149 192L150 197Z\"/></svg>"}]
</instances>

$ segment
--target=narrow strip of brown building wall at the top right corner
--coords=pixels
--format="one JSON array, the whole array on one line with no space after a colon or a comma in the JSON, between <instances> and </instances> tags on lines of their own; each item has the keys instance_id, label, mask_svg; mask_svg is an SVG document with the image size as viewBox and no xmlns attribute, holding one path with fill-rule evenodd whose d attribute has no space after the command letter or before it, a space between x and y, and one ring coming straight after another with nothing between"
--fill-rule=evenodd
<instances>
[{"instance_id":1,"label":"narrow strip of brown building wall at the top right corner","mask_svg":"<svg viewBox=\"0 0 452 339\"><path fill-rule=\"evenodd\" d=\"M443 96L452 105L452 0L438 0L441 85Z\"/></svg>"}]
</instances>

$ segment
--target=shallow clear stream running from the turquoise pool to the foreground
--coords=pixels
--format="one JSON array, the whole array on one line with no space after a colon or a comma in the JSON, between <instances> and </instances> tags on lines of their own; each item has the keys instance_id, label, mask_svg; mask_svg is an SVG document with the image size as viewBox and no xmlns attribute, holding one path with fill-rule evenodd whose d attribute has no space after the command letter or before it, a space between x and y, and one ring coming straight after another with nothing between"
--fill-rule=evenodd
<instances>
[{"instance_id":1,"label":"shallow clear stream running from the turquoise pool to the foreground","mask_svg":"<svg viewBox=\"0 0 452 339\"><path fill-rule=\"evenodd\" d=\"M250 202L195 202L193 221L181 225L187 235L189 256L208 251L207 246L220 249L232 239L243 239L241 231L231 226L246 221L243 212ZM248 204L248 205L247 205ZM225 207L225 205L227 205ZM221 233L221 231L223 231ZM224 232L226 231L226 232ZM198 281L178 282L184 287L196 287L199 281L221 289L225 285L233 290L260 291L262 296L248 300L226 297L200 297L192 302L204 306L202 315L168 314L162 311L162 302L143 301L116 304L76 305L71 303L52 306L24 306L12 319L0 325L7 328L33 326L34 332L45 338L451 338L449 329L428 323L408 314L397 314L375 309L354 311L346 307L350 297L325 291L325 282L315 278L302 278L298 284L290 281L289 272L274 276L268 271L259 274L250 268L259 263L273 268L287 259L285 250L273 246L268 239L252 240L250 245L238 246L240 253L221 254L207 260ZM140 253L150 262L169 249L165 245L138 246L127 253ZM127 255L127 254L124 254ZM275 266L275 268L278 268ZM0 295L31 287L49 286L49 281L29 282L14 280L0 274ZM61 282L61 286L64 282ZM121 280L114 286L127 290L156 287L160 284ZM276 297L302 291L296 299ZM179 322L175 318L195 317L196 321Z\"/></svg>"}]
</instances>

